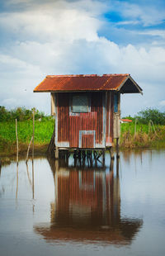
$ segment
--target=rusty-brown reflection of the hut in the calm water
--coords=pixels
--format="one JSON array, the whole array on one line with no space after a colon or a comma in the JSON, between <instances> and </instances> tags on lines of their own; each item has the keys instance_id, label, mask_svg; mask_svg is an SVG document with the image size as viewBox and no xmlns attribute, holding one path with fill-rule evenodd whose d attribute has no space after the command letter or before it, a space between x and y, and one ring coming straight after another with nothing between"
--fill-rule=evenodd
<instances>
[{"instance_id":1,"label":"rusty-brown reflection of the hut in the calm water","mask_svg":"<svg viewBox=\"0 0 165 256\"><path fill-rule=\"evenodd\" d=\"M36 233L50 242L131 243L143 221L120 216L118 170L64 167L57 161L50 166L55 188L51 222L35 226Z\"/></svg>"}]
</instances>

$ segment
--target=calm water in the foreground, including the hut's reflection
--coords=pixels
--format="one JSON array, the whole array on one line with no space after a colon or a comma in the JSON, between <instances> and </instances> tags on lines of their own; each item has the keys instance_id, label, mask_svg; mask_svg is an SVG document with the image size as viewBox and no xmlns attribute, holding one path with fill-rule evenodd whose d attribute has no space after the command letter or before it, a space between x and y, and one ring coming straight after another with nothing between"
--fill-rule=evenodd
<instances>
[{"instance_id":1,"label":"calm water in the foreground, including the hut's reflection","mask_svg":"<svg viewBox=\"0 0 165 256\"><path fill-rule=\"evenodd\" d=\"M0 171L0 255L165 255L165 150Z\"/></svg>"}]
</instances>

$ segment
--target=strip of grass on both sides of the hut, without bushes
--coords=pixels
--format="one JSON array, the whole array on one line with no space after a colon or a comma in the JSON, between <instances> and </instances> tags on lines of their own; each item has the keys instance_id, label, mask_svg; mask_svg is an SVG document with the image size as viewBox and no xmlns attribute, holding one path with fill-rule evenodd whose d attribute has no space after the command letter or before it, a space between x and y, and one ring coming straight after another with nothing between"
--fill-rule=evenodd
<instances>
[{"instance_id":1,"label":"strip of grass on both sides of the hut, without bushes","mask_svg":"<svg viewBox=\"0 0 165 256\"><path fill-rule=\"evenodd\" d=\"M137 124L134 134L134 121L121 125L120 148L165 148L165 126ZM19 151L24 153L30 143L33 123L32 121L18 121ZM35 154L45 153L54 130L54 119L35 121ZM15 121L0 122L0 155L16 154L16 124Z\"/></svg>"}]
</instances>

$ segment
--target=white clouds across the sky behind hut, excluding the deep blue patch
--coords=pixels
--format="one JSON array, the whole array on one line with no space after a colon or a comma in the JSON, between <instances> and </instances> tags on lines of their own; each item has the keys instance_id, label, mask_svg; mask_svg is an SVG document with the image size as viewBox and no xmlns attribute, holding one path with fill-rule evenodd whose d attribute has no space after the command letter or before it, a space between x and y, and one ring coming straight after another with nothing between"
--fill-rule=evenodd
<instances>
[{"instance_id":1,"label":"white clouds across the sky behind hut, excluding the deep blue patch","mask_svg":"<svg viewBox=\"0 0 165 256\"><path fill-rule=\"evenodd\" d=\"M16 37L0 53L1 104L50 112L50 95L32 91L46 74L58 73L131 73L144 96L123 97L123 114L158 104L164 93L165 49L120 46L98 36L98 16L106 5L94 3L57 1L0 14L0 25Z\"/></svg>"}]
</instances>

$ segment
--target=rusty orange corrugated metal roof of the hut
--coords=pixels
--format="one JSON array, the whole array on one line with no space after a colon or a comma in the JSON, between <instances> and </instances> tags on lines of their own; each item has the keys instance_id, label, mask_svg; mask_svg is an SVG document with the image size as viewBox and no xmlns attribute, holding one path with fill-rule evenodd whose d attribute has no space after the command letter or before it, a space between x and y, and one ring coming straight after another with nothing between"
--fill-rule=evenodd
<instances>
[{"instance_id":1,"label":"rusty orange corrugated metal roof of the hut","mask_svg":"<svg viewBox=\"0 0 165 256\"><path fill-rule=\"evenodd\" d=\"M34 92L79 92L79 91L109 91L118 90L130 78L124 74L78 74L78 75L48 75L35 88ZM131 78L134 86L139 86ZM139 90L142 91L141 88Z\"/></svg>"}]
</instances>

